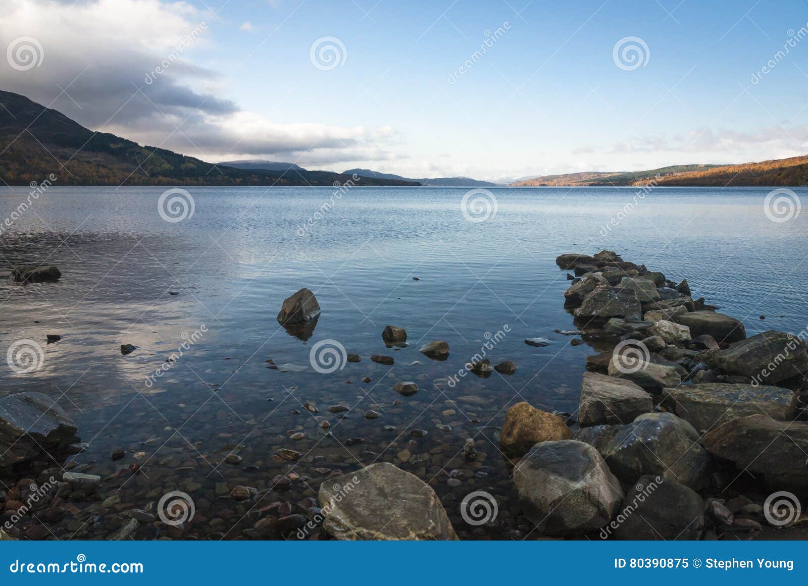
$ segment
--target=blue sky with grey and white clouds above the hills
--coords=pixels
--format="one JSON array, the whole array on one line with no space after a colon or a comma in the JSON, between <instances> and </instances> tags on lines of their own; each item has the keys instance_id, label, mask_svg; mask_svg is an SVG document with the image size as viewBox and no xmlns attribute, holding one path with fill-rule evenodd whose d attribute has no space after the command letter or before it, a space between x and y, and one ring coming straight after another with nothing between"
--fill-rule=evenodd
<instances>
[{"instance_id":1,"label":"blue sky with grey and white clouds above the hills","mask_svg":"<svg viewBox=\"0 0 808 586\"><path fill-rule=\"evenodd\" d=\"M0 4L0 89L205 161L502 182L808 151L803 0Z\"/></svg>"}]
</instances>

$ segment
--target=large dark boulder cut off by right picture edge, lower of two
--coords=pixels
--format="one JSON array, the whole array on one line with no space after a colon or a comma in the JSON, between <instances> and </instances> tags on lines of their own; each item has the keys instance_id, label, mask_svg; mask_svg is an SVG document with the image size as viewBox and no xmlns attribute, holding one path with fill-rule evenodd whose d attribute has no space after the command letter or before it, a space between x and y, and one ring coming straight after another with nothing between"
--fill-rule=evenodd
<instances>
[{"instance_id":1,"label":"large dark boulder cut off by right picture edge, lower of two","mask_svg":"<svg viewBox=\"0 0 808 586\"><path fill-rule=\"evenodd\" d=\"M701 445L739 471L760 475L772 490L808 496L808 423L739 417L706 433Z\"/></svg>"}]
</instances>

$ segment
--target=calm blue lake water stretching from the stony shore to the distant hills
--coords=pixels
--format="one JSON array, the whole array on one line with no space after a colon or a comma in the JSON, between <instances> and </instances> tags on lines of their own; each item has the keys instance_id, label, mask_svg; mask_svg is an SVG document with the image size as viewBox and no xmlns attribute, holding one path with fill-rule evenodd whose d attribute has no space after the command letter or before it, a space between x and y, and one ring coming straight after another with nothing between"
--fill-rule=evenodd
<instances>
[{"instance_id":1,"label":"calm blue lake water stretching from the stony shore to the distant hills","mask_svg":"<svg viewBox=\"0 0 808 586\"><path fill-rule=\"evenodd\" d=\"M2 353L21 339L44 349L30 373L2 362L0 393L59 397L86 442L72 458L78 471L107 477L141 464L140 474L103 483L103 498L119 495L120 504L77 504L81 511L54 529L60 537L108 536L123 523L118 513L170 491L187 492L196 507L173 537L255 537L243 530L258 509L316 496L327 476L319 469L387 461L431 483L461 538L524 538L530 527L516 514L497 429L519 400L574 413L592 354L553 332L572 328L563 308L568 282L554 263L560 253L612 249L668 278L688 278L694 297L743 320L749 335L798 332L808 322L808 214L769 220L766 188L657 188L611 229L604 227L638 190L492 189L496 213L481 222L461 209L465 189L355 187L335 197L329 188L190 188L193 216L179 222L158 213L163 191L52 187L0 236L2 275L12 264L40 262L62 273L58 283L9 279L0 287ZM808 202L808 190L795 191ZM27 190L3 194L5 218ZM322 307L305 341L276 321L283 299L301 287ZM386 324L406 328L409 345L386 348ZM488 356L513 360L516 373L469 375L450 387L448 377L500 331ZM48 333L63 339L45 345ZM147 386L189 337L191 347ZM535 348L525 337L553 343ZM447 361L419 354L432 340L448 341ZM319 341L362 361L322 374L309 362ZM123 356L121 344L137 350ZM371 362L372 354L395 364ZM401 380L419 391L399 395L392 387ZM319 411L305 411L306 402ZM331 414L336 404L351 411ZM368 409L381 416L366 419ZM427 434L412 437L412 429ZM304 439L292 441L294 432ZM470 466L460 455L468 437L484 454ZM118 448L127 454L112 462ZM304 458L273 459L279 448ZM231 453L240 465L224 463ZM254 501L223 496L237 485L271 488L290 471L301 476L291 490L271 492L251 512ZM461 499L478 490L498 501L493 525L461 518ZM157 536L151 525L138 534Z\"/></svg>"}]
</instances>

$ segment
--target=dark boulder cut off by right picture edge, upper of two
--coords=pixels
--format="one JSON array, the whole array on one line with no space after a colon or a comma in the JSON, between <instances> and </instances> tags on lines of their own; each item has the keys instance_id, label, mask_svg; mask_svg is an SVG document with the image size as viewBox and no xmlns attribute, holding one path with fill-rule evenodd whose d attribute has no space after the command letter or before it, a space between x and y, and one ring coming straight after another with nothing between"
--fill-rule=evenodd
<instances>
[{"instance_id":1,"label":"dark boulder cut off by right picture edge, upper of two","mask_svg":"<svg viewBox=\"0 0 808 586\"><path fill-rule=\"evenodd\" d=\"M776 384L808 372L808 346L791 333L768 332L736 341L715 354L715 365L728 375Z\"/></svg>"}]
</instances>

